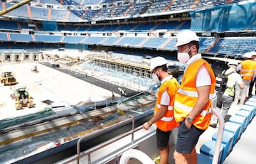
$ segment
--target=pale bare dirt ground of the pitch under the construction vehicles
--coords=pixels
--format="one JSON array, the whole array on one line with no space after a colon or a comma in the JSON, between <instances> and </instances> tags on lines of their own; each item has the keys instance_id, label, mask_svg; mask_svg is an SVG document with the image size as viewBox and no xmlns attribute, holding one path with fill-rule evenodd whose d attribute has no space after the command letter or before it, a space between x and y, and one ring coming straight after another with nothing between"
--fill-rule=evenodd
<instances>
[{"instance_id":1,"label":"pale bare dirt ground of the pitch under the construction vehicles","mask_svg":"<svg viewBox=\"0 0 256 164\"><path fill-rule=\"evenodd\" d=\"M31 70L37 65L39 72ZM18 84L4 86L0 84L0 120L22 116L41 111L48 104L44 100L52 101L56 106L72 106L81 104L92 99L92 97L111 97L112 92L84 82L63 72L50 67L33 63L6 63L0 65L0 72L12 71ZM15 101L10 95L18 86L26 86L33 97L35 108L24 108L16 110Z\"/></svg>"}]
</instances>

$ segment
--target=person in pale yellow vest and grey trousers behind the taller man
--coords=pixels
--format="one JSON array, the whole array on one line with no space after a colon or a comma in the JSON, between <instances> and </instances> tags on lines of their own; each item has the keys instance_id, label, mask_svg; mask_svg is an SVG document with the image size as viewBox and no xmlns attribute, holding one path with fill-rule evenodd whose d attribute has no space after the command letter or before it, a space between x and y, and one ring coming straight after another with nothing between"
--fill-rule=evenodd
<instances>
[{"instance_id":1,"label":"person in pale yellow vest and grey trousers behind the taller man","mask_svg":"<svg viewBox=\"0 0 256 164\"><path fill-rule=\"evenodd\" d=\"M230 109L230 106L234 102L235 87L237 85L240 87L240 89L244 89L245 87L245 84L242 82L241 75L236 72L238 62L235 60L230 60L230 62L228 62L228 67L228 70L224 70L222 72L225 72L225 75L228 75L227 88L224 92L217 92L217 110L220 112L221 116L223 116L224 120L228 114L228 109ZM210 126L216 128L217 123L217 117L213 116Z\"/></svg>"}]
</instances>

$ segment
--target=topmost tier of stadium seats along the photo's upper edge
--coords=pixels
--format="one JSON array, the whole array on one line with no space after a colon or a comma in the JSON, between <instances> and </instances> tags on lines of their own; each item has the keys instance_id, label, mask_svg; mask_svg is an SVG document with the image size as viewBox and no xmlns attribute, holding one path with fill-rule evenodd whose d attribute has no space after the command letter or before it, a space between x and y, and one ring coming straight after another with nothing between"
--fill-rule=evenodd
<instances>
[{"instance_id":1,"label":"topmost tier of stadium seats along the photo's upper edge","mask_svg":"<svg viewBox=\"0 0 256 164\"><path fill-rule=\"evenodd\" d=\"M191 9L206 9L211 6L237 3L238 0L185 0L185 1L142 1L141 3L128 3L127 1L78 1L78 0L58 0L58 1L37 1L19 7L9 13L7 17L17 17L26 19L39 19L51 21L92 21L101 19L111 19L120 16L133 18L139 14L152 14L164 12L178 12ZM103 7L104 4L104 7ZM5 10L14 4L2 2L0 10ZM46 6L46 7L44 7ZM71 7L72 6L72 7ZM90 6L90 7L88 7ZM100 6L100 7L99 7ZM66 7L66 8L65 8ZM61 9L60 9L61 8Z\"/></svg>"}]
</instances>

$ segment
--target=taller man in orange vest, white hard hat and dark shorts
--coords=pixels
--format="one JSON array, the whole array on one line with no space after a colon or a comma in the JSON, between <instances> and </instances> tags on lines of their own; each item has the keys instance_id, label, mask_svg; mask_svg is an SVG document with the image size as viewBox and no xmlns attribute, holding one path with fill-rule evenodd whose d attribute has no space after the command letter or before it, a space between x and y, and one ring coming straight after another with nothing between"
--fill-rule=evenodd
<instances>
[{"instance_id":1,"label":"taller man in orange vest, white hard hat and dark shorts","mask_svg":"<svg viewBox=\"0 0 256 164\"><path fill-rule=\"evenodd\" d=\"M196 33L188 30L178 33L176 47L178 60L187 66L174 101L174 118L180 123L174 160L176 164L196 164L196 143L210 124L215 75L198 53Z\"/></svg>"}]
</instances>

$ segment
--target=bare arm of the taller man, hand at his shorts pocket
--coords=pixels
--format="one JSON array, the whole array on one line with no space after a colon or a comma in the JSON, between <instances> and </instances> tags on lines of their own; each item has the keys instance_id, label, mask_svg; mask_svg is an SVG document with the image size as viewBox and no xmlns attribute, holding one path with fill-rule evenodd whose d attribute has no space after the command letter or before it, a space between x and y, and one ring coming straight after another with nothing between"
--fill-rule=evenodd
<instances>
[{"instance_id":1,"label":"bare arm of the taller man, hand at his shorts pocket","mask_svg":"<svg viewBox=\"0 0 256 164\"><path fill-rule=\"evenodd\" d=\"M210 94L210 85L197 87L198 92L198 100L196 101L195 106L193 106L193 109L188 114L188 116L191 119L196 119L196 117L201 114L203 109L205 108L206 104L209 102L209 94ZM188 123L186 121L186 126L188 129L191 128L192 123Z\"/></svg>"}]
</instances>

